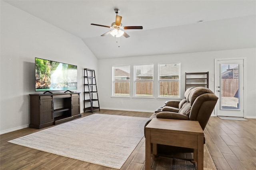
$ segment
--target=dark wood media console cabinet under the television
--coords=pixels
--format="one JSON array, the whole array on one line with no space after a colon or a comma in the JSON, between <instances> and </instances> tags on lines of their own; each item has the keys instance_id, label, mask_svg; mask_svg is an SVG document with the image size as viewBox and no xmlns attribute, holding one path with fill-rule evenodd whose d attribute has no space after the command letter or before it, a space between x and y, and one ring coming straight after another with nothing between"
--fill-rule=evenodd
<instances>
[{"instance_id":1,"label":"dark wood media console cabinet under the television","mask_svg":"<svg viewBox=\"0 0 256 170\"><path fill-rule=\"evenodd\" d=\"M80 93L30 94L30 125L41 129L81 117Z\"/></svg>"}]
</instances>

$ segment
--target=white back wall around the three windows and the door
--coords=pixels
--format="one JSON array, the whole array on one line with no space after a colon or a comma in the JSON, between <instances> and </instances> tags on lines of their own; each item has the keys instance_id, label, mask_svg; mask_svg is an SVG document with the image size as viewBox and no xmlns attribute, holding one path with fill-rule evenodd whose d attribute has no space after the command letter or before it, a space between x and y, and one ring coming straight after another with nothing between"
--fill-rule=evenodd
<instances>
[{"instance_id":1,"label":"white back wall around the three windows and the door","mask_svg":"<svg viewBox=\"0 0 256 170\"><path fill-rule=\"evenodd\" d=\"M158 63L181 63L181 97L185 91L185 72L209 71L209 88L214 91L214 59L246 57L246 116L256 118L256 49L237 49L226 51L210 51L202 53L186 53L172 55L155 55L144 57L127 57L120 59L102 59L98 61L98 91L100 107L131 111L154 111L166 100L157 99L157 65ZM154 99L142 100L128 98L111 98L112 66L134 64L154 64ZM133 80L133 70L131 70ZM130 86L133 87L132 81ZM130 88L132 90L132 88ZM133 92L132 92L133 93Z\"/></svg>"}]
</instances>

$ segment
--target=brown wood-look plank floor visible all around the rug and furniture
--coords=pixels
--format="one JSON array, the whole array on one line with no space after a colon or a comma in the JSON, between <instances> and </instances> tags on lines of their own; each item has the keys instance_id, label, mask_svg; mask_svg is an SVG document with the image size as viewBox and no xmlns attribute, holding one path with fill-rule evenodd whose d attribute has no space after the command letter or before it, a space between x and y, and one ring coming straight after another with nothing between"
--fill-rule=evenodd
<instances>
[{"instance_id":1,"label":"brown wood-look plank floor visible all around the rug and furniture","mask_svg":"<svg viewBox=\"0 0 256 170\"><path fill-rule=\"evenodd\" d=\"M150 117L152 115L152 113L146 112L104 109L94 111L94 113L137 117ZM82 113L82 117L90 114L92 113ZM8 143L9 140L36 131L39 129L25 128L0 135L1 170L115 170ZM204 133L206 137L204 170L256 169L256 119L232 121L211 117ZM212 164L212 160L215 165ZM143 138L121 169L145 170L144 162L145 139Z\"/></svg>"}]
</instances>

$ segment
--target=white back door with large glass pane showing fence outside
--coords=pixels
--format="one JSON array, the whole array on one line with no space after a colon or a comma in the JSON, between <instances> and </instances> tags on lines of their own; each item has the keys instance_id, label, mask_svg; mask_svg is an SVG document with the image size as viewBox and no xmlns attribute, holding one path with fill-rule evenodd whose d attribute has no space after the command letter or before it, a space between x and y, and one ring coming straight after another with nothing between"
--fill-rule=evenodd
<instances>
[{"instance_id":1,"label":"white back door with large glass pane showing fence outside","mask_svg":"<svg viewBox=\"0 0 256 170\"><path fill-rule=\"evenodd\" d=\"M218 60L217 75L217 115L244 117L244 60Z\"/></svg>"}]
</instances>

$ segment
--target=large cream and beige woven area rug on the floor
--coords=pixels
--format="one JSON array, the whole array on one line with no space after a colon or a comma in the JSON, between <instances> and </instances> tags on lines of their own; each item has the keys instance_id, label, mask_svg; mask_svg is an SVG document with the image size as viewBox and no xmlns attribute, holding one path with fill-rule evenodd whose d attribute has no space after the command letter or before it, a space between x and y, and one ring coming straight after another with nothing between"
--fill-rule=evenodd
<instances>
[{"instance_id":1,"label":"large cream and beige woven area rug on the floor","mask_svg":"<svg viewBox=\"0 0 256 170\"><path fill-rule=\"evenodd\" d=\"M120 169L144 136L146 121L144 117L93 114L8 142Z\"/></svg>"}]
</instances>

